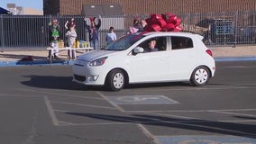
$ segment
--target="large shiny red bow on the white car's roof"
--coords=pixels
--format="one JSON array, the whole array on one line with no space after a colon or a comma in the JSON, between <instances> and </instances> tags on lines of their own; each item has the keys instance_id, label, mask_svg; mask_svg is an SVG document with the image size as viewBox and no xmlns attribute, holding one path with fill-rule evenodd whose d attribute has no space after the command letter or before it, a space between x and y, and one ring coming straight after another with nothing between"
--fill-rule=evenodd
<instances>
[{"instance_id":1,"label":"large shiny red bow on the white car's roof","mask_svg":"<svg viewBox=\"0 0 256 144\"><path fill-rule=\"evenodd\" d=\"M145 31L181 31L181 19L176 14L151 14L145 20L148 24Z\"/></svg>"}]
</instances>

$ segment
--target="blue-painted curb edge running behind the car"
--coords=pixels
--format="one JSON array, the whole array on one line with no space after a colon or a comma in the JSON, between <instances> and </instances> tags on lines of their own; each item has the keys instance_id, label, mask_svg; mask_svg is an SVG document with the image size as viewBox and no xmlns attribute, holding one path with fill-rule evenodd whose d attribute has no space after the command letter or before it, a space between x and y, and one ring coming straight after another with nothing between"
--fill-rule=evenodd
<instances>
[{"instance_id":1,"label":"blue-painted curb edge running behind the car","mask_svg":"<svg viewBox=\"0 0 256 144\"><path fill-rule=\"evenodd\" d=\"M215 58L215 61L256 61L256 57ZM0 67L73 65L73 60L0 61Z\"/></svg>"}]
</instances>

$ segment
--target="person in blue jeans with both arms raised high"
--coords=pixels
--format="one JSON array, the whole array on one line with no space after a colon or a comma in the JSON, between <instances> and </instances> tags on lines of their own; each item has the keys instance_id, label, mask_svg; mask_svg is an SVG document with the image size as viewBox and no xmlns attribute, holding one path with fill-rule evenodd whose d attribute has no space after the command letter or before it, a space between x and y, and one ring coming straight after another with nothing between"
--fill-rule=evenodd
<instances>
[{"instance_id":1,"label":"person in blue jeans with both arms raised high","mask_svg":"<svg viewBox=\"0 0 256 144\"><path fill-rule=\"evenodd\" d=\"M98 23L96 23L96 17L90 17L90 25L87 24L87 18L85 17L84 23L85 28L89 32L89 41L90 41L90 47L93 47L94 49L99 49L99 36L98 36L98 30L101 26L101 16L98 15Z\"/></svg>"}]
</instances>

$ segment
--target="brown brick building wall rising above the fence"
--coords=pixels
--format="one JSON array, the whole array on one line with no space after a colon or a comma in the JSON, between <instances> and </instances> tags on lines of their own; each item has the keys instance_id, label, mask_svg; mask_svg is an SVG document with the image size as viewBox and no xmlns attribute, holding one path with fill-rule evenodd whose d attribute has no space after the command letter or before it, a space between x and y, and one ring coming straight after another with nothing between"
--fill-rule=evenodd
<instances>
[{"instance_id":1,"label":"brown brick building wall rising above the fence","mask_svg":"<svg viewBox=\"0 0 256 144\"><path fill-rule=\"evenodd\" d=\"M121 4L123 13L197 14L256 10L255 0L44 0L45 14L79 15L83 4ZM46 5L48 4L48 5Z\"/></svg>"}]
</instances>

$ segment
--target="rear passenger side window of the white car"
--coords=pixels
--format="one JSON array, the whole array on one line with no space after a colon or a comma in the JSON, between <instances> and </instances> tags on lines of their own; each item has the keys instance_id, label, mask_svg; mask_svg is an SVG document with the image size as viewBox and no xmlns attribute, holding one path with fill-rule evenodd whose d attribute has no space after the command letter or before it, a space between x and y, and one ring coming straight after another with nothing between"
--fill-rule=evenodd
<instances>
[{"instance_id":1,"label":"rear passenger side window of the white car","mask_svg":"<svg viewBox=\"0 0 256 144\"><path fill-rule=\"evenodd\" d=\"M187 37L171 37L172 49L189 49L193 48L193 40Z\"/></svg>"}]
</instances>

